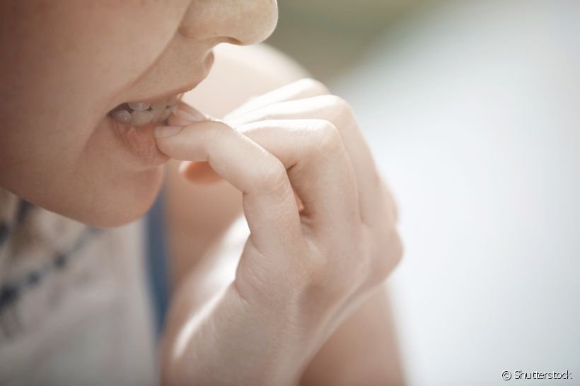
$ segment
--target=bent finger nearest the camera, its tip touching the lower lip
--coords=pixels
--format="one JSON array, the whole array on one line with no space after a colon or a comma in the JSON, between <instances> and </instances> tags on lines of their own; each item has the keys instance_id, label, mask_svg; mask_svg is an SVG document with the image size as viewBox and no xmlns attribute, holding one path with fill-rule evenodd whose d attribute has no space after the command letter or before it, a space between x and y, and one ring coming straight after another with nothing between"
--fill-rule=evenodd
<instances>
[{"instance_id":1,"label":"bent finger nearest the camera, its tip touching the lower lip","mask_svg":"<svg viewBox=\"0 0 580 386\"><path fill-rule=\"evenodd\" d=\"M298 206L286 169L260 145L217 120L189 124L156 142L172 158L207 161L243 193L245 218L262 254L275 257L302 245Z\"/></svg>"}]
</instances>

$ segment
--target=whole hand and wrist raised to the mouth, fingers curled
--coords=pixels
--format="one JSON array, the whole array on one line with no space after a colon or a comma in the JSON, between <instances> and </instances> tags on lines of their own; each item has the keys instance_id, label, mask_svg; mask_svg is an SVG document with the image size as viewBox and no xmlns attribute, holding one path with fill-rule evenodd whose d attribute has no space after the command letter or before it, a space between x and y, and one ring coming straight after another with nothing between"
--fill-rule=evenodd
<instances>
[{"instance_id":1,"label":"whole hand and wrist raised to the mouth, fingers curled","mask_svg":"<svg viewBox=\"0 0 580 386\"><path fill-rule=\"evenodd\" d=\"M262 95L225 122L180 105L170 124L182 129L158 131L161 151L207 161L243 193L251 232L236 279L168 334L163 372L171 384L294 385L399 261L395 207L352 109L320 83Z\"/></svg>"}]
</instances>

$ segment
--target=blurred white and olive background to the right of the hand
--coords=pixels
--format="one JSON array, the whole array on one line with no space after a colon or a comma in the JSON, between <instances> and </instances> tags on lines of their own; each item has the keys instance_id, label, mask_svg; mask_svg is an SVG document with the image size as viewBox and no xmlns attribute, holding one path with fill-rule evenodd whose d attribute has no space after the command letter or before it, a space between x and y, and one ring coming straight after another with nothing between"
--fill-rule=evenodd
<instances>
[{"instance_id":1,"label":"blurred white and olive background to the right of the hand","mask_svg":"<svg viewBox=\"0 0 580 386\"><path fill-rule=\"evenodd\" d=\"M580 1L282 0L400 205L410 385L580 385Z\"/></svg>"}]
</instances>

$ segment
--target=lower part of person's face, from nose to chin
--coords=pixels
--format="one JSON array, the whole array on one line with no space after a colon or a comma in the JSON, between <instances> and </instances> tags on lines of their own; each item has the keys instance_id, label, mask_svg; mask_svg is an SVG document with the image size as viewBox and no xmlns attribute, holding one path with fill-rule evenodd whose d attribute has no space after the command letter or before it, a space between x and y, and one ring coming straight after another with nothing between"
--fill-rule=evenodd
<instances>
[{"instance_id":1,"label":"lower part of person's face, from nose to chin","mask_svg":"<svg viewBox=\"0 0 580 386\"><path fill-rule=\"evenodd\" d=\"M91 225L138 218L166 156L155 119L111 112L164 112L207 76L212 47L260 42L276 22L276 0L2 1L0 186Z\"/></svg>"}]
</instances>

